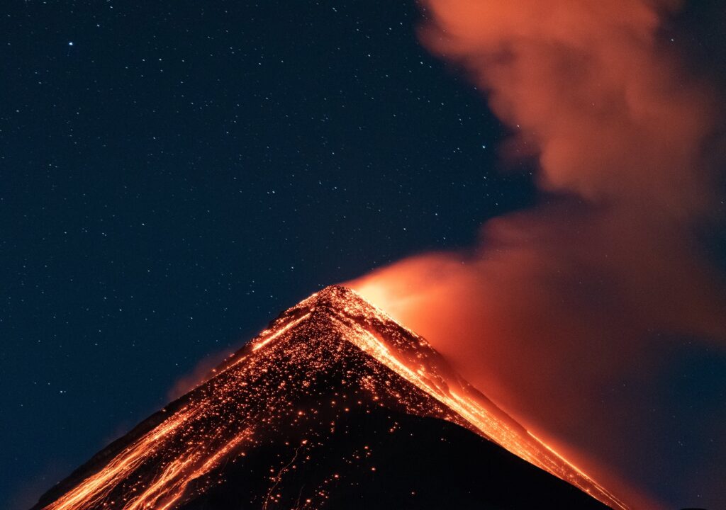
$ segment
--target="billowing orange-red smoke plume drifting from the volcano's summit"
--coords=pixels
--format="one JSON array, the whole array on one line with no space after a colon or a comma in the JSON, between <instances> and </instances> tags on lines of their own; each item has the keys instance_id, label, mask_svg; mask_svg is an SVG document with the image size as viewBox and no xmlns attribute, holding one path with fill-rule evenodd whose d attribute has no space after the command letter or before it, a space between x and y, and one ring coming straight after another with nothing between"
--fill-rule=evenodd
<instances>
[{"instance_id":1,"label":"billowing orange-red smoke plume drifting from the volcano's summit","mask_svg":"<svg viewBox=\"0 0 726 510\"><path fill-rule=\"evenodd\" d=\"M489 221L470 252L348 285L605 481L595 464L648 469L632 433L666 345L726 339L722 275L692 234L716 200L714 95L658 38L679 2L422 3L423 44L487 91L515 133L502 157L537 158L542 205ZM623 384L632 396L613 398Z\"/></svg>"}]
</instances>

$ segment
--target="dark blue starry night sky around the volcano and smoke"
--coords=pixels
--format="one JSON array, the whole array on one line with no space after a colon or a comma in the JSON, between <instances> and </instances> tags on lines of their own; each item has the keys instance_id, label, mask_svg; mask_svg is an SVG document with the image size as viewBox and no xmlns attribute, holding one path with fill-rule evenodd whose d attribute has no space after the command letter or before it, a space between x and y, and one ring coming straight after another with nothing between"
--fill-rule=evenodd
<instances>
[{"instance_id":1,"label":"dark blue starry night sky around the volcano and smoke","mask_svg":"<svg viewBox=\"0 0 726 510\"><path fill-rule=\"evenodd\" d=\"M718 80L722 8L694 3L672 35ZM413 2L130 4L0 18L2 508L311 292L547 200ZM695 359L674 412L725 368Z\"/></svg>"}]
</instances>

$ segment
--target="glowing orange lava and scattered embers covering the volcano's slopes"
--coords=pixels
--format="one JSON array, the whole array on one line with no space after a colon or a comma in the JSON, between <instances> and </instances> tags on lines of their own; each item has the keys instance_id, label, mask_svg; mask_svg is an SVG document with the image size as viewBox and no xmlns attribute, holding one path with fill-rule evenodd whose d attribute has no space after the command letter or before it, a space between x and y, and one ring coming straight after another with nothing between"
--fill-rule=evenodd
<instances>
[{"instance_id":1,"label":"glowing orange lava and scattered embers covering the volcano's slopes","mask_svg":"<svg viewBox=\"0 0 726 510\"><path fill-rule=\"evenodd\" d=\"M471 387L426 340L345 287L327 287L282 313L213 374L91 459L36 510L183 507L224 485L223 466L245 466L248 453L290 445L293 461L278 458L258 470L265 490L240 501L284 506L282 477L313 458L352 406L453 421L606 505L627 508ZM297 508L325 505L328 482L320 483L305 497L303 485Z\"/></svg>"}]
</instances>

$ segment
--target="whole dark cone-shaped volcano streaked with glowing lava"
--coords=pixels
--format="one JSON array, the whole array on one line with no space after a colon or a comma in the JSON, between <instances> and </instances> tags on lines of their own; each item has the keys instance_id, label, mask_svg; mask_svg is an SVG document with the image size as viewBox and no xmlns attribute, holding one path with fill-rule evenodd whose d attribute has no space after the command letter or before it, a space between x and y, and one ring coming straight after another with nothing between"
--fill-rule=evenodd
<instances>
[{"instance_id":1,"label":"whole dark cone-shaped volcano streaked with glowing lava","mask_svg":"<svg viewBox=\"0 0 726 510\"><path fill-rule=\"evenodd\" d=\"M33 510L627 506L346 287L281 313Z\"/></svg>"}]
</instances>

